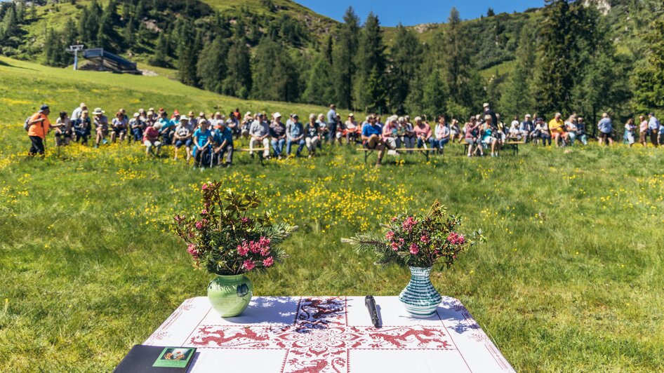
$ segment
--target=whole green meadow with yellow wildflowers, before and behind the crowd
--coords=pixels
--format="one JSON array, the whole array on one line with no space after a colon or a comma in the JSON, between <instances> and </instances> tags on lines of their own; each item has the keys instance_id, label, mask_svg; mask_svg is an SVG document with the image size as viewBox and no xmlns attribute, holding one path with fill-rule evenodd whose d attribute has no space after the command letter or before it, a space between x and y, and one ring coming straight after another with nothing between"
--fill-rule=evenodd
<instances>
[{"instance_id":1,"label":"whole green meadow with yellow wildflowers, before and behind the crowd","mask_svg":"<svg viewBox=\"0 0 664 373\"><path fill-rule=\"evenodd\" d=\"M664 370L664 149L523 147L518 157L388 158L354 149L269 161L239 154L198 170L142 147L73 145L27 160L22 121L53 111L178 107L319 112L243 102L161 77L49 69L0 59L0 355L4 371L109 371L211 276L171 233L199 209L201 183L258 191L300 230L290 257L252 276L256 295L397 295L407 269L381 269L340 238L439 200L488 242L432 276L460 299L517 371ZM131 109L130 109L131 108ZM441 367L444 369L444 367Z\"/></svg>"}]
</instances>

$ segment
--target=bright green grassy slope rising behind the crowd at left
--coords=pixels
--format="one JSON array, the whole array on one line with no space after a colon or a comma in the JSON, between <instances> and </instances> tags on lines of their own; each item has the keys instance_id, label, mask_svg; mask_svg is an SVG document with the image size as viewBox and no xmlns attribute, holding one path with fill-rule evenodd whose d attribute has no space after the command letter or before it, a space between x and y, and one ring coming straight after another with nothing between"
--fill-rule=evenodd
<instances>
[{"instance_id":1,"label":"bright green grassy slope rising behind the crowd at left","mask_svg":"<svg viewBox=\"0 0 664 373\"><path fill-rule=\"evenodd\" d=\"M91 108L102 107L108 113L121 107L131 113L140 107L196 112L228 112L239 107L242 111L298 112L301 116L326 111L324 107L306 104L256 102L217 95L165 76L73 72L0 57L0 123L18 126L42 103L51 104L55 115L62 110L71 112L80 102L86 102ZM3 145L11 147L11 144Z\"/></svg>"}]
</instances>

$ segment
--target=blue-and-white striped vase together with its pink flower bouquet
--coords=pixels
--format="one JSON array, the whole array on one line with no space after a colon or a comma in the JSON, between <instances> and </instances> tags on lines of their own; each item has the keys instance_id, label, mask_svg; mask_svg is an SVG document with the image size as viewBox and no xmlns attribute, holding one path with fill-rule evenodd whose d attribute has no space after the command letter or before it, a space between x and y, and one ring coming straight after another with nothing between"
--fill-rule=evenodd
<instances>
[{"instance_id":1,"label":"blue-and-white striped vase together with its pink flower bouquet","mask_svg":"<svg viewBox=\"0 0 664 373\"><path fill-rule=\"evenodd\" d=\"M409 266L411 281L399 300L411 315L427 318L436 313L441 302L429 277L432 268L437 264L441 269L451 267L458 255L484 241L481 230L472 239L458 233L460 224L460 217L447 215L446 208L436 202L425 215L404 212L392 217L389 224L383 225L383 234L361 233L342 241L359 252L375 252L376 264Z\"/></svg>"}]
</instances>

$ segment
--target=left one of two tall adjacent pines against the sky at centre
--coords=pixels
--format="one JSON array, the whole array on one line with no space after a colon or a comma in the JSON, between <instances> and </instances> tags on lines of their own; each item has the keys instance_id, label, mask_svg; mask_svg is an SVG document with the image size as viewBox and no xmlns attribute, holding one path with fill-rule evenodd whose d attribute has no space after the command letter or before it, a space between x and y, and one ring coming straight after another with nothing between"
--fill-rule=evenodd
<instances>
[{"instance_id":1,"label":"left one of two tall adjacent pines against the sky at centre","mask_svg":"<svg viewBox=\"0 0 664 373\"><path fill-rule=\"evenodd\" d=\"M359 18L350 6L343 17L344 23L333 49L333 81L336 102L339 107L353 107L353 84L356 71L355 59L359 44Z\"/></svg>"}]
</instances>

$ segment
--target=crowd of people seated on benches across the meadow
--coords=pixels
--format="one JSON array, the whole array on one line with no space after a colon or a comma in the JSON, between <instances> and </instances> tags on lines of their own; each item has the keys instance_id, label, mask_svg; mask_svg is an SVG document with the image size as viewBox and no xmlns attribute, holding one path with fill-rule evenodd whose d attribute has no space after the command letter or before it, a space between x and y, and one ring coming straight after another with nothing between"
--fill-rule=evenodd
<instances>
[{"instance_id":1,"label":"crowd of people seated on benches across the meadow","mask_svg":"<svg viewBox=\"0 0 664 373\"><path fill-rule=\"evenodd\" d=\"M557 113L546 121L540 116L526 114L523 121L514 117L509 126L500 120L500 115L489 104L484 104L482 114L471 116L463 126L456 119L448 123L445 116L438 116L434 124L426 118L416 116L388 116L369 114L364 121L358 121L354 114L348 114L343 121L331 104L327 114L310 114L300 121L298 114L290 114L284 123L281 114L267 115L263 112L242 115L239 109L228 116L217 111L198 115L194 111L180 114L173 110L169 114L165 109L139 109L129 116L124 109L119 109L109 120L102 108L88 110L86 104L67 114L66 111L51 124L48 106L27 119L25 128L32 140L29 154L44 154L43 140L48 130L55 130L55 144L66 145L70 142L88 144L94 147L113 142L140 143L145 146L146 154L158 156L164 146L173 146L174 158L183 155L187 162L197 165L231 165L234 142L243 139L248 142L251 157L258 154L262 158L285 158L288 156L316 156L323 143L357 144L367 151L378 151L378 162L390 152L413 153L428 151L443 153L447 144L459 142L467 144L467 156L484 156L489 152L495 157L506 143L519 142L555 145L556 147L573 146L575 143L588 143L585 121L572 114L566 121ZM599 144L613 144L614 126L609 114L602 114L596 127ZM661 126L654 113L639 117L638 125L633 119L625 123L623 141L635 144L636 140L646 145L651 140L654 146L664 141L664 126Z\"/></svg>"}]
</instances>

